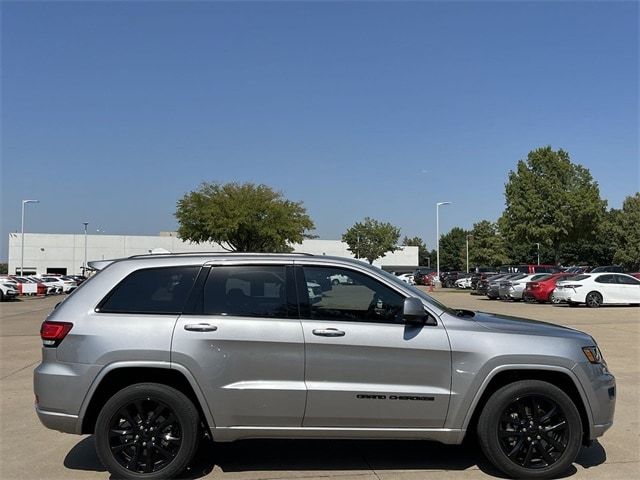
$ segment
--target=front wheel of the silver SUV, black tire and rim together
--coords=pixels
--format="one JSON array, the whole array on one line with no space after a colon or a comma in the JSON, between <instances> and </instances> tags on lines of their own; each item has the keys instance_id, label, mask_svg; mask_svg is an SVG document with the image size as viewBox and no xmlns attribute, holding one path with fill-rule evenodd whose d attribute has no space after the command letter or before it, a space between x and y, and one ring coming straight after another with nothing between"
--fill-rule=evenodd
<instances>
[{"instance_id":1,"label":"front wheel of the silver SUV, black tire and rim together","mask_svg":"<svg viewBox=\"0 0 640 480\"><path fill-rule=\"evenodd\" d=\"M491 395L477 434L486 457L509 477L542 479L569 469L581 448L582 422L558 387L523 380Z\"/></svg>"}]
</instances>

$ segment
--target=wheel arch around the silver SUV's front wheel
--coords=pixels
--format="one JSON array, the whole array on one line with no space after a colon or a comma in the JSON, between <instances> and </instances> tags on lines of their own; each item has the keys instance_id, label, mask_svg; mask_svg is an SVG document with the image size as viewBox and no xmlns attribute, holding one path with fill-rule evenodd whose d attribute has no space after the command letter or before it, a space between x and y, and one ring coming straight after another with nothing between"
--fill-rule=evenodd
<instances>
[{"instance_id":1,"label":"wheel arch around the silver SUV's front wheel","mask_svg":"<svg viewBox=\"0 0 640 480\"><path fill-rule=\"evenodd\" d=\"M492 375L487 377L483 383L469 409L463 428L463 431L466 432L465 435L475 435L478 418L491 395L505 385L519 380L540 380L548 382L565 392L576 405L578 413L580 414L583 443L585 445L589 443L589 438L591 438L591 425L593 424L591 408L575 375L564 368L556 369L537 366L513 366L494 370Z\"/></svg>"}]
</instances>

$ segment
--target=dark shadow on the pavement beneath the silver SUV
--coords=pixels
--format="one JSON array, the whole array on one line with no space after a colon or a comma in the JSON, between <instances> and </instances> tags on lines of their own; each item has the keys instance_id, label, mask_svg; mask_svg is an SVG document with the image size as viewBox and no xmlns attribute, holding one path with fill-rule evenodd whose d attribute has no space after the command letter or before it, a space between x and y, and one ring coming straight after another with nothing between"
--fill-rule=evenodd
<instances>
[{"instance_id":1,"label":"dark shadow on the pavement beneath the silver SUV","mask_svg":"<svg viewBox=\"0 0 640 480\"><path fill-rule=\"evenodd\" d=\"M582 449L576 463L589 468L605 460L604 449L594 442ZM93 436L84 438L69 451L64 466L71 470L105 471L95 453ZM472 442L454 446L386 440L243 440L218 444L203 441L183 478L202 478L216 466L222 472L316 471L319 475L335 471L461 471L476 467L487 475L506 478ZM576 471L571 467L565 476Z\"/></svg>"}]
</instances>

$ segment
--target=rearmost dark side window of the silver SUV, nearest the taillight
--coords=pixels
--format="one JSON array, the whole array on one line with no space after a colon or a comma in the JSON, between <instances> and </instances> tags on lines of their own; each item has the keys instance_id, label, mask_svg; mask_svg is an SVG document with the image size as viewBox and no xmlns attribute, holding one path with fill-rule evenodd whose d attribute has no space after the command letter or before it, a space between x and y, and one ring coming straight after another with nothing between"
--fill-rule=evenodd
<instances>
[{"instance_id":1,"label":"rearmost dark side window of the silver SUV, nearest the taillight","mask_svg":"<svg viewBox=\"0 0 640 480\"><path fill-rule=\"evenodd\" d=\"M130 274L106 297L106 313L182 313L200 267L164 267Z\"/></svg>"}]
</instances>

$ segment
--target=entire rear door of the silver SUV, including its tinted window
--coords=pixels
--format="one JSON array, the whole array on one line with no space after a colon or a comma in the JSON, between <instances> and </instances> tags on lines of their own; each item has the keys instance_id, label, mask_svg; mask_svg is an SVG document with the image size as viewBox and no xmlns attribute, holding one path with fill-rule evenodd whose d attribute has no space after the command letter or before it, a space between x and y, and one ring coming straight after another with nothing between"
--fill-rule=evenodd
<instances>
[{"instance_id":1,"label":"entire rear door of the silver SUV, including its tinted window","mask_svg":"<svg viewBox=\"0 0 640 480\"><path fill-rule=\"evenodd\" d=\"M288 318L288 276L284 265L214 265L196 313L176 323L171 361L193 373L216 427L302 423L304 338Z\"/></svg>"}]
</instances>

